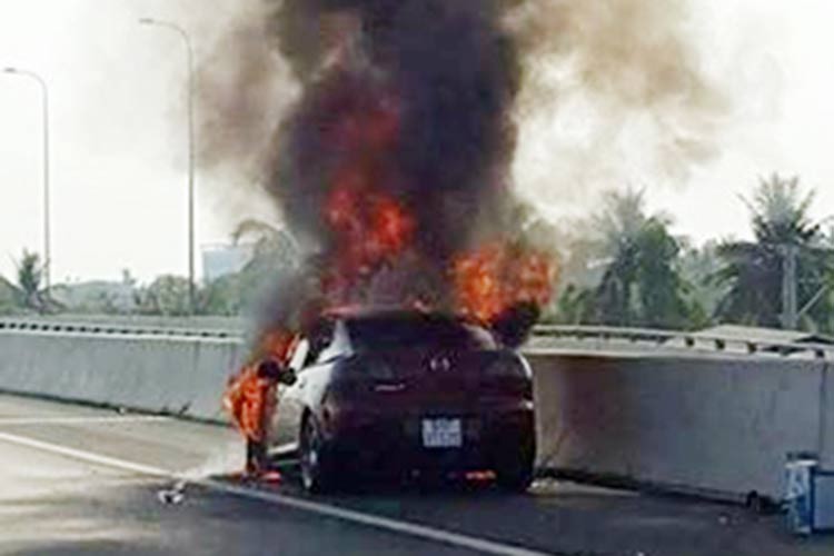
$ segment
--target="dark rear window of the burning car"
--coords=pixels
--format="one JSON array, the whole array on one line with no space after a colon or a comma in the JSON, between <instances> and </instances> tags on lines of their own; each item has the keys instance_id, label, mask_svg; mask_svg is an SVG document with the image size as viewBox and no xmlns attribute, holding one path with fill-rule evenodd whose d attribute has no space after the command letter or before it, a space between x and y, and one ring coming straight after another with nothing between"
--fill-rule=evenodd
<instances>
[{"instance_id":1,"label":"dark rear window of the burning car","mask_svg":"<svg viewBox=\"0 0 834 556\"><path fill-rule=\"evenodd\" d=\"M434 315L394 315L347 321L358 351L410 348L490 349L492 335L457 319Z\"/></svg>"}]
</instances>

